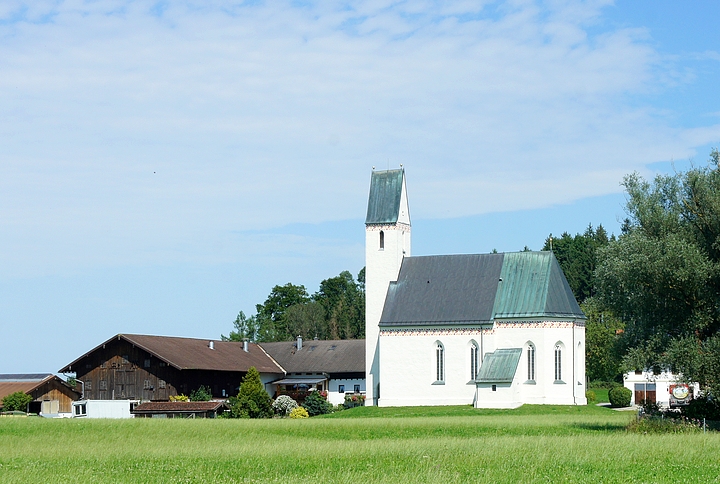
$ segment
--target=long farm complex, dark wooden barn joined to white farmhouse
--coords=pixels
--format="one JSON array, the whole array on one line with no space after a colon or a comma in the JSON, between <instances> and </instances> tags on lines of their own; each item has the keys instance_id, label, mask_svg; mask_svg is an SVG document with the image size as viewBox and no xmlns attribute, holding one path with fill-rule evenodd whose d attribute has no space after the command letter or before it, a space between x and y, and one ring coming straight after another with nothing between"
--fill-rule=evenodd
<instances>
[{"instance_id":1,"label":"long farm complex, dark wooden barn joined to white farmhouse","mask_svg":"<svg viewBox=\"0 0 720 484\"><path fill-rule=\"evenodd\" d=\"M128 413L131 408L134 415L153 412L171 415L175 410L164 412L157 406L141 407L138 413L135 402L167 401L174 395L189 394L201 385L210 388L213 398L224 399L237 395L251 366L260 372L271 396L287 394L302 401L308 391L322 390L328 392L328 400L339 404L345 394L365 392L364 351L364 340L313 340L303 344L302 338L298 338L260 345L118 334L60 372L76 374L83 400L76 402L73 412L83 417L119 415L117 408L124 416L131 415ZM117 400L129 400L132 404L116 407L113 401ZM100 401L107 403L103 405Z\"/></svg>"}]
</instances>

